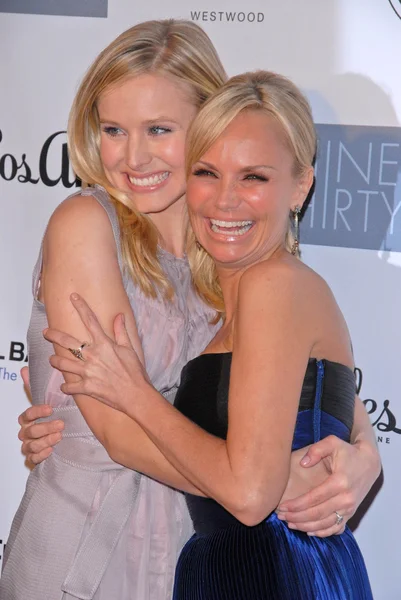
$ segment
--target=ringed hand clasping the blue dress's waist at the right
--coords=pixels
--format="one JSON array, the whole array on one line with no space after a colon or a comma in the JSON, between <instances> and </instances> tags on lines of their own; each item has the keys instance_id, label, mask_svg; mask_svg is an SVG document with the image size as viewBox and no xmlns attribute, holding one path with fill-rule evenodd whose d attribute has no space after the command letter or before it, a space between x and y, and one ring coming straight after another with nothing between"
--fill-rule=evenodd
<instances>
[{"instance_id":1,"label":"ringed hand clasping the blue dress's waist at the right","mask_svg":"<svg viewBox=\"0 0 401 600\"><path fill-rule=\"evenodd\" d=\"M327 471L326 480L292 500L288 500L285 493L277 514L291 529L326 537L344 531L346 522L379 476L381 467L378 452L371 444L348 444L332 435L309 447L300 461L300 468L315 468L319 463ZM339 525L336 524L336 512L344 517Z\"/></svg>"}]
</instances>

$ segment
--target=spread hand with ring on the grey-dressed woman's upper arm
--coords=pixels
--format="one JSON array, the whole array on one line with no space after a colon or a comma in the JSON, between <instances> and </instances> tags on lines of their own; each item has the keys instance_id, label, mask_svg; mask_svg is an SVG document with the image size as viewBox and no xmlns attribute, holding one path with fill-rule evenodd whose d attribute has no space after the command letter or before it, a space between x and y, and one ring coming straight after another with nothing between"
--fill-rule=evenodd
<instances>
[{"instance_id":1,"label":"spread hand with ring on the grey-dressed woman's upper arm","mask_svg":"<svg viewBox=\"0 0 401 600\"><path fill-rule=\"evenodd\" d=\"M114 342L102 329L95 313L83 298L71 295L71 302L90 335L82 349L83 360L53 355L50 364L59 371L74 373L77 382L63 383L62 392L68 395L85 394L111 408L127 412L136 394L149 387L145 369L132 347L125 329L124 315L114 320ZM65 349L78 349L82 342L55 329L44 331L45 338Z\"/></svg>"}]
</instances>

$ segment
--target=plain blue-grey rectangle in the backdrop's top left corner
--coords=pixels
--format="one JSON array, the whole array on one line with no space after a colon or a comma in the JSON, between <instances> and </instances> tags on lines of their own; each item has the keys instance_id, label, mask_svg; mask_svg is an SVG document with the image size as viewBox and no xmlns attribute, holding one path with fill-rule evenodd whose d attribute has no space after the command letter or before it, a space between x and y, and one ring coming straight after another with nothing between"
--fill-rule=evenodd
<instances>
[{"instance_id":1,"label":"plain blue-grey rectangle in the backdrop's top left corner","mask_svg":"<svg viewBox=\"0 0 401 600\"><path fill-rule=\"evenodd\" d=\"M0 12L64 17L107 17L108 0L0 0Z\"/></svg>"}]
</instances>

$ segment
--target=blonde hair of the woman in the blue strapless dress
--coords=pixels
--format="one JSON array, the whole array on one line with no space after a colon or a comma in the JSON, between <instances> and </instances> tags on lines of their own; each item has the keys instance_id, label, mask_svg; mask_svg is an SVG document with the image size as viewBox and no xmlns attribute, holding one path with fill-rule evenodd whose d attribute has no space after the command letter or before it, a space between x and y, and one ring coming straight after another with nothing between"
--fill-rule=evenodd
<instances>
[{"instance_id":1,"label":"blonde hair of the woman in the blue strapless dress","mask_svg":"<svg viewBox=\"0 0 401 600\"><path fill-rule=\"evenodd\" d=\"M228 125L244 110L262 111L281 125L287 146L294 158L294 177L301 177L313 164L316 132L309 103L289 79L268 71L232 77L204 104L188 131L187 176ZM289 215L286 248L294 242ZM223 295L212 257L196 245L188 233L187 252L199 295L218 312L224 312Z\"/></svg>"}]
</instances>

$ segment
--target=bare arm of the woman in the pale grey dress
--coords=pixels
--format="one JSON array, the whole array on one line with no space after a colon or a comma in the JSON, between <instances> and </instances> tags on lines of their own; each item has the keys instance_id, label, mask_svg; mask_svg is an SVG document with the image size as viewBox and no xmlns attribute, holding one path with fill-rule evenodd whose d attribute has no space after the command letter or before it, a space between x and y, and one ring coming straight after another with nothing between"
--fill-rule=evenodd
<instances>
[{"instance_id":1,"label":"bare arm of the woman in the pale grey dress","mask_svg":"<svg viewBox=\"0 0 401 600\"><path fill-rule=\"evenodd\" d=\"M73 291L85 294L109 335L113 335L115 314L124 313L130 340L143 361L110 222L104 209L90 196L70 198L53 214L44 240L40 287L40 299L45 304L50 327L70 331L81 342L90 342L87 328L71 305ZM71 356L60 346L55 350L60 356ZM66 382L77 381L76 375L63 374ZM198 492L169 464L132 419L89 396L77 394L74 400L115 462L120 462L121 457L118 447L115 449L113 445L114 437L130 438L133 445L128 466L171 486Z\"/></svg>"}]
</instances>

